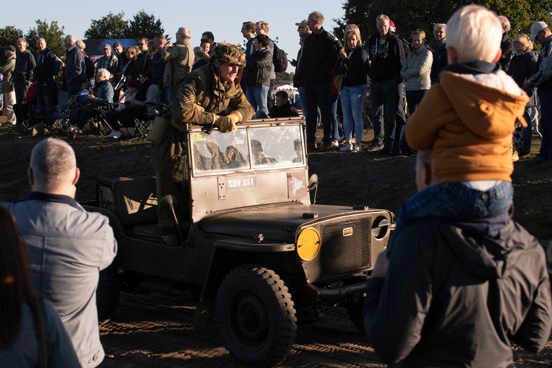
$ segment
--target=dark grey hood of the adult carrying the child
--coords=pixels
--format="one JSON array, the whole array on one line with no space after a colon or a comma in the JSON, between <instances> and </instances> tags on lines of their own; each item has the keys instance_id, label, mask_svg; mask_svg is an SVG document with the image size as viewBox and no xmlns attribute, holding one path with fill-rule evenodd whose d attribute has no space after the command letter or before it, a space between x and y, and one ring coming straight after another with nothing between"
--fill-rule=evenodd
<instances>
[{"instance_id":1,"label":"dark grey hood of the adult carrying the child","mask_svg":"<svg viewBox=\"0 0 552 368\"><path fill-rule=\"evenodd\" d=\"M493 228L501 226L493 221L500 220L481 219L475 226L456 224L454 231L446 232L444 242L451 246L470 273L487 280L506 278L511 269L517 269L514 266L519 264L527 249L540 246L533 236L512 220L508 220L496 236L489 235Z\"/></svg>"}]
</instances>

